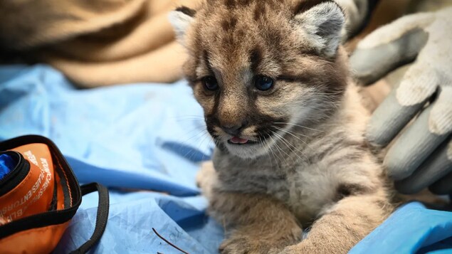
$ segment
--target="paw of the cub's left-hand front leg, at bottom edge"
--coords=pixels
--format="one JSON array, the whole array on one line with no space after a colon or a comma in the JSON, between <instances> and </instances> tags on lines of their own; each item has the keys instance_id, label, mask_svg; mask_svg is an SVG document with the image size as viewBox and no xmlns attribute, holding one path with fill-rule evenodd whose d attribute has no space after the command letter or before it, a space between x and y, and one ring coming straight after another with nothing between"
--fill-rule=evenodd
<instances>
[{"instance_id":1,"label":"paw of the cub's left-hand front leg, at bottom edge","mask_svg":"<svg viewBox=\"0 0 452 254\"><path fill-rule=\"evenodd\" d=\"M266 240L228 238L220 245L221 254L276 254L284 246Z\"/></svg>"}]
</instances>

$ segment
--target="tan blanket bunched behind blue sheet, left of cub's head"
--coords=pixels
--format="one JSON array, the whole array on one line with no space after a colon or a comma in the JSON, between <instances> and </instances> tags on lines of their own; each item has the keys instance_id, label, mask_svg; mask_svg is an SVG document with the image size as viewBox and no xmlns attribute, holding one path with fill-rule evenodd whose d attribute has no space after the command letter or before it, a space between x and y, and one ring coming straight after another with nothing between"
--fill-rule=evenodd
<instances>
[{"instance_id":1,"label":"tan blanket bunched behind blue sheet, left of cub's head","mask_svg":"<svg viewBox=\"0 0 452 254\"><path fill-rule=\"evenodd\" d=\"M169 83L182 77L184 49L168 11L197 0L0 1L0 48L49 63L92 88Z\"/></svg>"}]
</instances>

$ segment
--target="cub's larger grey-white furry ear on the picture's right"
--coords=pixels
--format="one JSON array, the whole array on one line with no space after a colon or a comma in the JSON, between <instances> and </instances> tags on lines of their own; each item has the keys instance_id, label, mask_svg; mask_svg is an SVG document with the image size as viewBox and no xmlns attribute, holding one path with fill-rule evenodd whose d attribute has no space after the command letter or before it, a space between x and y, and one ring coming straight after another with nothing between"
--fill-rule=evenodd
<instances>
[{"instance_id":1,"label":"cub's larger grey-white furry ear on the picture's right","mask_svg":"<svg viewBox=\"0 0 452 254\"><path fill-rule=\"evenodd\" d=\"M306 1L305 3L310 4L312 2L315 1ZM334 1L317 2L320 4L313 6L302 4L298 8L298 14L295 15L295 23L310 46L327 58L333 58L341 43L345 16L342 9Z\"/></svg>"}]
</instances>

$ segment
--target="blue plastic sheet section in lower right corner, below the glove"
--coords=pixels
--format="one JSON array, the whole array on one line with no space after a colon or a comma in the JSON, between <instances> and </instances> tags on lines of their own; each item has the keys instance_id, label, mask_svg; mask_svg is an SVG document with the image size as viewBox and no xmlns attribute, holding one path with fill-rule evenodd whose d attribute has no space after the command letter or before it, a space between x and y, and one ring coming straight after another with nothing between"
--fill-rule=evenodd
<instances>
[{"instance_id":1,"label":"blue plastic sheet section in lower right corner, below the glove","mask_svg":"<svg viewBox=\"0 0 452 254\"><path fill-rule=\"evenodd\" d=\"M452 253L452 213L408 203L349 253Z\"/></svg>"}]
</instances>

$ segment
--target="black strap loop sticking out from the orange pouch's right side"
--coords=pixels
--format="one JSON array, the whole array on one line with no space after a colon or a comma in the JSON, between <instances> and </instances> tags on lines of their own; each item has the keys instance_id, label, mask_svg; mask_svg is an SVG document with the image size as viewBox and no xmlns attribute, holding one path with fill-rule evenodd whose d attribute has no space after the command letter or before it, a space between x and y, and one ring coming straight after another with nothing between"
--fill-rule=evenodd
<instances>
[{"instance_id":1,"label":"black strap loop sticking out from the orange pouch's right side","mask_svg":"<svg viewBox=\"0 0 452 254\"><path fill-rule=\"evenodd\" d=\"M98 183L92 183L82 185L80 186L80 189L82 190L82 195L90 194L93 191L99 192L98 216L96 217L93 236L91 236L90 240L83 243L83 245L81 245L78 249L73 250L70 254L87 253L90 248L98 243L105 231L105 227L107 226L108 209L110 208L108 189L105 188L105 186Z\"/></svg>"}]
</instances>

